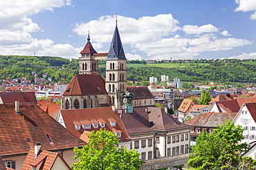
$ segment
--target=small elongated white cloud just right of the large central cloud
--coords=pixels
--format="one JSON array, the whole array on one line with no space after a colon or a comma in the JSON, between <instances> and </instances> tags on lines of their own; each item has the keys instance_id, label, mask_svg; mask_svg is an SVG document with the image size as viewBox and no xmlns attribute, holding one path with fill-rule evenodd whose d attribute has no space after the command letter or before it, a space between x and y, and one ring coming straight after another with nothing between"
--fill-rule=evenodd
<instances>
[{"instance_id":1,"label":"small elongated white cloud just right of the large central cloud","mask_svg":"<svg viewBox=\"0 0 256 170\"><path fill-rule=\"evenodd\" d=\"M202 25L202 26L197 26L197 25L184 25L183 26L183 31L186 34L202 34L202 33L210 33L210 32L218 32L218 28L214 27L212 24L208 25Z\"/></svg>"}]
</instances>

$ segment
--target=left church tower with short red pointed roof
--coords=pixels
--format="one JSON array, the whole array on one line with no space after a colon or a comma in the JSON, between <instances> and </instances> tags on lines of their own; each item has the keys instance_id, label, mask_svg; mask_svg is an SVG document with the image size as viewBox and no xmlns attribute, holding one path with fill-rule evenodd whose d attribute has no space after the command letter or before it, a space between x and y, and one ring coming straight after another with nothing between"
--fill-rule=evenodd
<instances>
[{"instance_id":1,"label":"left church tower with short red pointed roof","mask_svg":"<svg viewBox=\"0 0 256 170\"><path fill-rule=\"evenodd\" d=\"M79 57L79 74L98 74L98 60L95 59L97 52L93 49L90 42L90 35L88 34L87 43L84 50L80 52Z\"/></svg>"}]
</instances>

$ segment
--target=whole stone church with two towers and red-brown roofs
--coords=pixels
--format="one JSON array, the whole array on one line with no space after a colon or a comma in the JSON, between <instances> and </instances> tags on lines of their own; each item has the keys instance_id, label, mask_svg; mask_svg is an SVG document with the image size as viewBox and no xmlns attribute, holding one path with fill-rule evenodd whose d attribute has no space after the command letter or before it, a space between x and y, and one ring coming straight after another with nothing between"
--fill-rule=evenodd
<instances>
[{"instance_id":1,"label":"whole stone church with two towers and red-brown roofs","mask_svg":"<svg viewBox=\"0 0 256 170\"><path fill-rule=\"evenodd\" d=\"M127 109L123 96L132 95L132 107L154 106L154 96L147 87L127 87L127 67L122 41L116 28L109 53L98 53L88 35L79 58L79 74L76 74L62 96L61 109L85 109L109 107ZM98 74L98 60L106 59L106 80ZM125 101L125 103L124 103ZM133 104L134 103L134 104ZM125 105L124 105L125 104Z\"/></svg>"}]
</instances>

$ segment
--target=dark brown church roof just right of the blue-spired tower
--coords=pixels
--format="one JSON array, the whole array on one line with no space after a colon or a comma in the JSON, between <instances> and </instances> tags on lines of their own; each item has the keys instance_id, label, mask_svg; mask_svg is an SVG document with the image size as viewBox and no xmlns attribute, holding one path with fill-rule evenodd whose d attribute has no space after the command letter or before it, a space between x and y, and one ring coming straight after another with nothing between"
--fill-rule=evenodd
<instances>
[{"instance_id":1,"label":"dark brown church roof just right of the blue-spired tower","mask_svg":"<svg viewBox=\"0 0 256 170\"><path fill-rule=\"evenodd\" d=\"M127 87L127 91L134 94L134 99L154 98L146 86Z\"/></svg>"}]
</instances>

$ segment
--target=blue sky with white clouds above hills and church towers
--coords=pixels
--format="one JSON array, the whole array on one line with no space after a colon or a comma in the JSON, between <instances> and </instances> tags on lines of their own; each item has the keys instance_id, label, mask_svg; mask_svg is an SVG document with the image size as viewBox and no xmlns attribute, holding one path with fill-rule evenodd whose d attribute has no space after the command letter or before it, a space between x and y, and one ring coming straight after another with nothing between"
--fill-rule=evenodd
<instances>
[{"instance_id":1,"label":"blue sky with white clouds above hills and church towers","mask_svg":"<svg viewBox=\"0 0 256 170\"><path fill-rule=\"evenodd\" d=\"M0 0L0 55L108 52L116 19L128 60L256 59L256 0Z\"/></svg>"}]
</instances>

